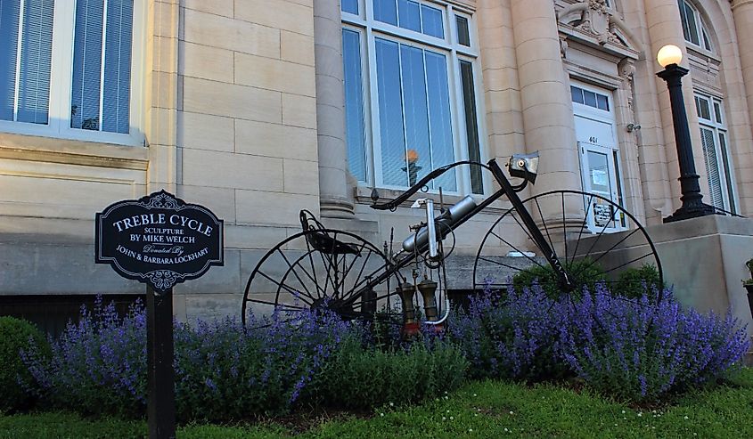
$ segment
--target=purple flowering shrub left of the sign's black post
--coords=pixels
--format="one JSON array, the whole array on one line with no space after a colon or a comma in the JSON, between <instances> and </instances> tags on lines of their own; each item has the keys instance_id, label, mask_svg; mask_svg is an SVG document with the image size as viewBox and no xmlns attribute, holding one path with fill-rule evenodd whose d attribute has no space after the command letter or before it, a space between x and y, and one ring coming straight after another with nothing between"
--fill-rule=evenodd
<instances>
[{"instance_id":1,"label":"purple flowering shrub left of the sign's black post","mask_svg":"<svg viewBox=\"0 0 753 439\"><path fill-rule=\"evenodd\" d=\"M146 318L142 305L120 319L98 297L94 313L82 307L45 353L37 345L21 352L40 402L90 413L133 416L146 406Z\"/></svg>"}]
</instances>

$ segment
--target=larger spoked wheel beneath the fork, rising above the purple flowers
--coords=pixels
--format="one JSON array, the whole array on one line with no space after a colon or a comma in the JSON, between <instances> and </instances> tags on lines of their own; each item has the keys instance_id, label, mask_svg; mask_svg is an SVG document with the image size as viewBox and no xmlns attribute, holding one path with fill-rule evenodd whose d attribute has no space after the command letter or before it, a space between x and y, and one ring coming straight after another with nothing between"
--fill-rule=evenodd
<instances>
[{"instance_id":1,"label":"larger spoked wheel beneath the fork, rising above the purple flowers","mask_svg":"<svg viewBox=\"0 0 753 439\"><path fill-rule=\"evenodd\" d=\"M593 193L550 191L525 199L523 206L567 273L568 283L555 279L543 248L513 207L481 241L473 267L475 289L520 289L537 280L551 295L579 294L597 283L618 293L628 285L623 274L627 269L648 264L659 273L655 287L661 294L656 248L643 225L618 204ZM640 280L634 279L633 286L635 282Z\"/></svg>"}]
</instances>

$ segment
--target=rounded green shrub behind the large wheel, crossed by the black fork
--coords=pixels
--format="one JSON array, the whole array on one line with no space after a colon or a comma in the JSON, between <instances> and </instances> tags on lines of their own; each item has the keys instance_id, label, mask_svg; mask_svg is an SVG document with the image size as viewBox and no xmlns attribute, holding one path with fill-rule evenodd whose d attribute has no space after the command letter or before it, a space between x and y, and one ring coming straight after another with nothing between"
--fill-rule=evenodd
<instances>
[{"instance_id":1,"label":"rounded green shrub behind the large wheel, crossed by the black fork","mask_svg":"<svg viewBox=\"0 0 753 439\"><path fill-rule=\"evenodd\" d=\"M583 287L593 290L598 282L607 279L602 266L595 264L590 258L568 261L564 268L575 284L572 293L576 295L583 291ZM544 293L549 298L556 299L562 294L554 269L549 264L534 265L512 277L512 287L516 291L529 289L535 282L544 289Z\"/></svg>"}]
</instances>

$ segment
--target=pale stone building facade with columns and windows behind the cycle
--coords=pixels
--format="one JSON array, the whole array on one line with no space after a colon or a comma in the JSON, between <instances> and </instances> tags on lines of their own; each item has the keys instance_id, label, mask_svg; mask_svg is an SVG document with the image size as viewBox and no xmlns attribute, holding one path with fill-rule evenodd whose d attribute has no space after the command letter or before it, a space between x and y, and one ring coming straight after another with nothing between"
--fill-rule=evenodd
<instances>
[{"instance_id":1,"label":"pale stone building facade with columns and windows behind the cycle","mask_svg":"<svg viewBox=\"0 0 753 439\"><path fill-rule=\"evenodd\" d=\"M15 49L0 85L0 300L142 293L94 265L94 213L166 189L225 220L225 266L177 286L176 315L240 313L250 271L299 232L301 208L375 243L408 233L419 212L369 208L373 187L389 197L413 183L406 154L425 175L538 150L528 195L607 182L643 224L660 224L680 196L655 76L667 44L691 70L683 93L704 199L753 215L750 0L2 7ZM450 201L493 189L471 171L443 184ZM505 207L458 231L459 255L474 254Z\"/></svg>"}]
</instances>

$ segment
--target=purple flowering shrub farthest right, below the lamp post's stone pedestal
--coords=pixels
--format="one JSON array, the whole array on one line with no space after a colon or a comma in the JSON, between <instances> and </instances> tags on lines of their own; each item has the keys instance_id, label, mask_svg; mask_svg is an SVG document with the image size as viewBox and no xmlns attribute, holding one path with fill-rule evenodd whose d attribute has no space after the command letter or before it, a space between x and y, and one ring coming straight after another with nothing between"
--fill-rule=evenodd
<instances>
[{"instance_id":1,"label":"purple flowering shrub farthest right, below the lamp post's stone pedestal","mask_svg":"<svg viewBox=\"0 0 753 439\"><path fill-rule=\"evenodd\" d=\"M560 304L561 355L589 386L632 401L657 401L691 386L713 383L749 349L739 322L727 314L683 310L669 291L657 303L626 299L602 285L578 303Z\"/></svg>"}]
</instances>

